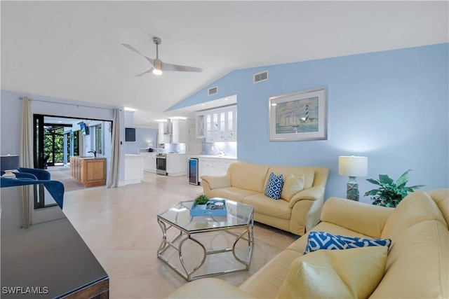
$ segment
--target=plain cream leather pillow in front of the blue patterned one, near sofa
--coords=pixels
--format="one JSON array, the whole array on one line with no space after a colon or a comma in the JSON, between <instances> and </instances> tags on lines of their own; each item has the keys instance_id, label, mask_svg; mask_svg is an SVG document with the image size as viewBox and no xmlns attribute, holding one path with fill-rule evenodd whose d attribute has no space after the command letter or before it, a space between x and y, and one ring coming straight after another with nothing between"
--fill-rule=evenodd
<instances>
[{"instance_id":1,"label":"plain cream leather pillow in front of the blue patterned one, near sofa","mask_svg":"<svg viewBox=\"0 0 449 299\"><path fill-rule=\"evenodd\" d=\"M296 258L276 298L368 298L384 275L387 251L319 250Z\"/></svg>"}]
</instances>

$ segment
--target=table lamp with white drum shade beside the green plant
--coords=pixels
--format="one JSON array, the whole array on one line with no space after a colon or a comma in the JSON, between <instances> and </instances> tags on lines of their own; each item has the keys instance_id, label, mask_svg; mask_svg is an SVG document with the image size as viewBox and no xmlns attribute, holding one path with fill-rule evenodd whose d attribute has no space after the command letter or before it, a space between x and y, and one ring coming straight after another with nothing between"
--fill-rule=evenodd
<instances>
[{"instance_id":1,"label":"table lamp with white drum shade beside the green plant","mask_svg":"<svg viewBox=\"0 0 449 299\"><path fill-rule=\"evenodd\" d=\"M349 176L346 198L358 202L358 183L356 176L368 175L368 157L356 155L338 157L338 174Z\"/></svg>"}]
</instances>

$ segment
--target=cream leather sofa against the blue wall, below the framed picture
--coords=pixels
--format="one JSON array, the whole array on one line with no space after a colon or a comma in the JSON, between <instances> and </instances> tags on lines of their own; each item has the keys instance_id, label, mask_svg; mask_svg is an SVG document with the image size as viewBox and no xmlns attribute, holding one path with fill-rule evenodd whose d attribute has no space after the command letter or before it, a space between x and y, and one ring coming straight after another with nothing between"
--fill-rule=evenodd
<instances>
[{"instance_id":1,"label":"cream leather sofa against the blue wall, below the framed picture","mask_svg":"<svg viewBox=\"0 0 449 299\"><path fill-rule=\"evenodd\" d=\"M264 195L269 174L283 174L280 200ZM254 220L281 230L304 235L319 223L324 190L328 181L326 167L272 166L233 162L226 174L201 176L204 194L223 197L254 207Z\"/></svg>"}]
</instances>

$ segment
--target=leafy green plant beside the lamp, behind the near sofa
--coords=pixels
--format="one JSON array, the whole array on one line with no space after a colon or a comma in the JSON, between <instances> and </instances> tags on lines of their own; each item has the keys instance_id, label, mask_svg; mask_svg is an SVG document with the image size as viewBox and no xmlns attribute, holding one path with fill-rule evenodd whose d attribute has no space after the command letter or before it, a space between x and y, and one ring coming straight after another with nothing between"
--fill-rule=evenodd
<instances>
[{"instance_id":1,"label":"leafy green plant beside the lamp, behind the near sofa","mask_svg":"<svg viewBox=\"0 0 449 299\"><path fill-rule=\"evenodd\" d=\"M413 192L413 189L424 187L424 185L417 185L407 187L408 182L408 169L404 172L396 181L393 181L387 174L379 174L379 179L366 179L370 183L374 183L379 187L377 189L369 190L365 193L365 196L372 196L373 204L382 207L395 208L401 200L408 195L409 192Z\"/></svg>"}]
</instances>

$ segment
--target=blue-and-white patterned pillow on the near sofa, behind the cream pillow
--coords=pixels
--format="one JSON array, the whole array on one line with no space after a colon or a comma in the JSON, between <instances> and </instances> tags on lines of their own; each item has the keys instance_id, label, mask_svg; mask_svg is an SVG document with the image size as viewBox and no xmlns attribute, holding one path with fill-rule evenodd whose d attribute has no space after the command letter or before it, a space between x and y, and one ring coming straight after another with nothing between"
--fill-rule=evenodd
<instances>
[{"instance_id":1,"label":"blue-and-white patterned pillow on the near sofa, behind the cream pillow","mask_svg":"<svg viewBox=\"0 0 449 299\"><path fill-rule=\"evenodd\" d=\"M387 246L391 245L391 239L370 239L361 237L345 237L332 235L329 232L309 232L307 245L304 254L318 249L350 249L368 246Z\"/></svg>"}]
</instances>

